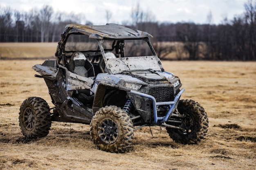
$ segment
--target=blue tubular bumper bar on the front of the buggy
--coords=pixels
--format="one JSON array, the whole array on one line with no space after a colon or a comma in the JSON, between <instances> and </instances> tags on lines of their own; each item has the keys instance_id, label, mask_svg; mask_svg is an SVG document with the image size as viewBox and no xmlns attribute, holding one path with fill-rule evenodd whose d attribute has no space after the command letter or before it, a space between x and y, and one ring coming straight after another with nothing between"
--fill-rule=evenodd
<instances>
[{"instance_id":1,"label":"blue tubular bumper bar on the front of the buggy","mask_svg":"<svg viewBox=\"0 0 256 170\"><path fill-rule=\"evenodd\" d=\"M180 100L180 96L181 94L185 91L185 89L181 89L180 92L175 96L173 101L169 101L169 102L157 102L155 100L155 98L151 95L148 94L144 94L141 92L136 92L131 90L130 93L132 94L136 94L145 98L148 98L149 100L151 100L153 102L153 111L154 111L154 123L163 123L166 122L169 118L169 116L171 115L171 113L173 113L173 111L176 109L178 102ZM157 107L160 105L169 105L170 109L168 110L168 112L166 113L166 116L164 117L157 117Z\"/></svg>"}]
</instances>

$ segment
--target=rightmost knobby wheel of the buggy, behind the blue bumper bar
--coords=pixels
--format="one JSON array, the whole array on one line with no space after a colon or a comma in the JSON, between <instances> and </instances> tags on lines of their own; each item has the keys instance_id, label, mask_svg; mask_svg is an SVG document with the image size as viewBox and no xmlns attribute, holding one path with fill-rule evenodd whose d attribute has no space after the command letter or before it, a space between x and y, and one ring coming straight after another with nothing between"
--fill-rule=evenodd
<instances>
[{"instance_id":1,"label":"rightmost knobby wheel of the buggy, behind the blue bumper bar","mask_svg":"<svg viewBox=\"0 0 256 170\"><path fill-rule=\"evenodd\" d=\"M204 139L208 131L208 118L204 108L194 100L180 100L177 111L184 115L180 127L186 130L166 128L169 136L177 143L196 144Z\"/></svg>"}]
</instances>

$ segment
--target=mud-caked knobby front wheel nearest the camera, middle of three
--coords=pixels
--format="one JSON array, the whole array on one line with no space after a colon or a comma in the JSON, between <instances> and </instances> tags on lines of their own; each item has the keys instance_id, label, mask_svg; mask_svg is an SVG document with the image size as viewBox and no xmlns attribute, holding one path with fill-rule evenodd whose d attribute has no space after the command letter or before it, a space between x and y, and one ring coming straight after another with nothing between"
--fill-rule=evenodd
<instances>
[{"instance_id":1,"label":"mud-caked knobby front wheel nearest the camera, middle of three","mask_svg":"<svg viewBox=\"0 0 256 170\"><path fill-rule=\"evenodd\" d=\"M124 153L132 146L133 124L127 113L116 106L102 107L90 123L93 143L104 151Z\"/></svg>"}]
</instances>

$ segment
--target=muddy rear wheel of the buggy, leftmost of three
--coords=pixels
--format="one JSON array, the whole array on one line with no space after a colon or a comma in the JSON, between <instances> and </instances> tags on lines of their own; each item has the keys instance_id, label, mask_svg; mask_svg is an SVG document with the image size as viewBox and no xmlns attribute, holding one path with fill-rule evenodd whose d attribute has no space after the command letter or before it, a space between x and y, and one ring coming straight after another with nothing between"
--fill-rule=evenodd
<instances>
[{"instance_id":1,"label":"muddy rear wheel of the buggy, leftmost of three","mask_svg":"<svg viewBox=\"0 0 256 170\"><path fill-rule=\"evenodd\" d=\"M39 97L27 98L20 106L19 122L27 139L47 136L52 124L49 105Z\"/></svg>"}]
</instances>

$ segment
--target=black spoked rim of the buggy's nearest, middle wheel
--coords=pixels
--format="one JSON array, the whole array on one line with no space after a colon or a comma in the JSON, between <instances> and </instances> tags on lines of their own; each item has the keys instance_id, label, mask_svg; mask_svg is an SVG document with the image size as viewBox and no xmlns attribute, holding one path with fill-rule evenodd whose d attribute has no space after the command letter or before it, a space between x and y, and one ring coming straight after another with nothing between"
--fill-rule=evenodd
<instances>
[{"instance_id":1,"label":"black spoked rim of the buggy's nearest, middle wheel","mask_svg":"<svg viewBox=\"0 0 256 170\"><path fill-rule=\"evenodd\" d=\"M105 144L115 143L119 136L117 123L110 118L101 120L98 125L98 136Z\"/></svg>"}]
</instances>

